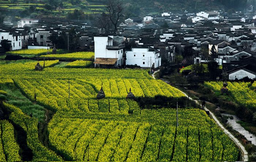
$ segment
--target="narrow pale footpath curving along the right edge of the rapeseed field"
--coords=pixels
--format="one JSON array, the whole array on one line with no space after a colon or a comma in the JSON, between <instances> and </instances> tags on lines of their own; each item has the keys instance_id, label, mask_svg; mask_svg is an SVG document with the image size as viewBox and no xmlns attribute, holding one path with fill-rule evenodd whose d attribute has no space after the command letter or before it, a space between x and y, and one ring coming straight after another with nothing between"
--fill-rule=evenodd
<instances>
[{"instance_id":1,"label":"narrow pale footpath curving along the right edge of the rapeseed field","mask_svg":"<svg viewBox=\"0 0 256 162\"><path fill-rule=\"evenodd\" d=\"M154 79L155 79L155 76L154 76L155 73L156 73L156 72L154 72L153 75L152 75ZM182 91L181 91L181 92L182 92ZM182 92L182 93L184 93L184 92ZM186 93L184 93L184 95L185 95L186 97L188 97L188 95L187 95ZM189 99L192 100L192 101L195 101L197 104L201 105L198 100L193 100L193 99L191 99L191 98L189 98ZM209 111L209 112L210 112L210 115L211 115L212 118L215 120L215 122L218 124L218 126L221 127L222 130L225 132L225 134L227 134L227 135L231 138L231 140L233 140L234 143L236 143L236 145L240 148L242 161L248 161L248 160L249 160L249 159L248 159L248 153L247 153L247 151L245 150L244 146L241 144L241 142L240 142L236 137L234 137L234 136L219 122L219 120L217 119L217 117L216 117L209 109L207 109L206 107L204 107L204 109L205 109L206 111Z\"/></svg>"}]
</instances>

